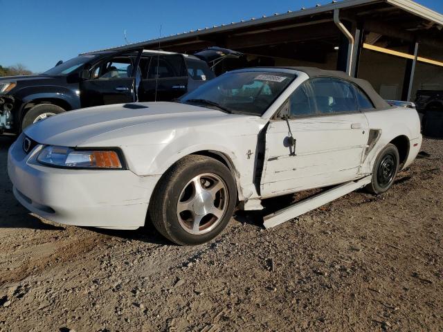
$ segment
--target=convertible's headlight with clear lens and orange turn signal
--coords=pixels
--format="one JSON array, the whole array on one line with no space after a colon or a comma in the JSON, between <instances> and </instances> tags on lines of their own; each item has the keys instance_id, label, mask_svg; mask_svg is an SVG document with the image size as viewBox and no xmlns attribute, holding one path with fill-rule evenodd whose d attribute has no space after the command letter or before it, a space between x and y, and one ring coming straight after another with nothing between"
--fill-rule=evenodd
<instances>
[{"instance_id":1,"label":"convertible's headlight with clear lens and orange turn signal","mask_svg":"<svg viewBox=\"0 0 443 332\"><path fill-rule=\"evenodd\" d=\"M68 168L123 169L114 150L75 150L71 147L44 147L37 156L39 163Z\"/></svg>"}]
</instances>

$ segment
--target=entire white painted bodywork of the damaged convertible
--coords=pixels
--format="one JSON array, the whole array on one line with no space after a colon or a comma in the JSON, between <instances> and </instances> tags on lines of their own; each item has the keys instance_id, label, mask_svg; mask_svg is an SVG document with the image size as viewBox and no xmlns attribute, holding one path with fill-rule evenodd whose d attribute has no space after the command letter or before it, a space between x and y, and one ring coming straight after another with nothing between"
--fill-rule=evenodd
<instances>
[{"instance_id":1,"label":"entire white painted bodywork of the damaged convertible","mask_svg":"<svg viewBox=\"0 0 443 332\"><path fill-rule=\"evenodd\" d=\"M296 73L297 78L261 117L148 102L139 104L147 108L139 109L113 104L69 111L30 126L8 154L14 194L28 210L56 222L135 229L145 223L161 176L177 160L199 151L226 160L237 182L239 201L363 178L372 173L379 151L398 136L406 136L410 142L404 167L417 156L422 142L417 111L400 107L289 120L296 138L296 156L289 156L284 145L287 122L272 117L309 77L301 71L280 71ZM370 151L369 129L381 133ZM259 194L254 180L262 130L266 130L266 147ZM28 155L22 149L24 135L39 142ZM128 169L47 167L36 160L44 145L118 147Z\"/></svg>"}]
</instances>

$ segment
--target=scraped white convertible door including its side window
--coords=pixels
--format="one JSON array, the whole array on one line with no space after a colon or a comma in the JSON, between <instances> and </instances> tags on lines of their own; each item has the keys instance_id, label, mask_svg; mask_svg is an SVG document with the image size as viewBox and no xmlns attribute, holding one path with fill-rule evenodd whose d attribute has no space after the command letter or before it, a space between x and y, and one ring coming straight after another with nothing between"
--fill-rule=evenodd
<instances>
[{"instance_id":1,"label":"scraped white convertible door including its side window","mask_svg":"<svg viewBox=\"0 0 443 332\"><path fill-rule=\"evenodd\" d=\"M262 196L359 177L368 120L358 111L349 82L329 77L306 81L279 112L266 130Z\"/></svg>"}]
</instances>

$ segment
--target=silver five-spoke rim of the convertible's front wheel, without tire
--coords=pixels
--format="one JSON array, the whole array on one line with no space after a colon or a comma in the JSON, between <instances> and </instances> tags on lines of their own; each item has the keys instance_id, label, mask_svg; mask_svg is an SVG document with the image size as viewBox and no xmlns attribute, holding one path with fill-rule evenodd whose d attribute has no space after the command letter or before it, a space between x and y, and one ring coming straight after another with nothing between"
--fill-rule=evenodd
<instances>
[{"instance_id":1,"label":"silver five-spoke rim of the convertible's front wheel, without tire","mask_svg":"<svg viewBox=\"0 0 443 332\"><path fill-rule=\"evenodd\" d=\"M190 234L205 234L223 219L228 206L228 188L213 173L192 178L181 190L177 202L177 218Z\"/></svg>"}]
</instances>

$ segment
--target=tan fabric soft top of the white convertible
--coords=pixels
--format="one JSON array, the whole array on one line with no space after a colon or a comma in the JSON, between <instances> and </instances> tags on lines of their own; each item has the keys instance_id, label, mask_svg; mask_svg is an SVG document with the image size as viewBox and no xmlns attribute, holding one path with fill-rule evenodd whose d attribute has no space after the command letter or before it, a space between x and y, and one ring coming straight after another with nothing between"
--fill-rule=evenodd
<instances>
[{"instance_id":1,"label":"tan fabric soft top of the white convertible","mask_svg":"<svg viewBox=\"0 0 443 332\"><path fill-rule=\"evenodd\" d=\"M347 80L353 82L357 86L360 87L365 93L368 95L374 107L376 109L388 109L390 104L383 100L380 95L374 90L370 82L366 80L361 80L360 78L351 77L344 73L343 71L325 71L323 69L315 68L315 67L278 67L284 69L292 69L294 71L302 71L306 73L309 77L337 77L342 80Z\"/></svg>"}]
</instances>

